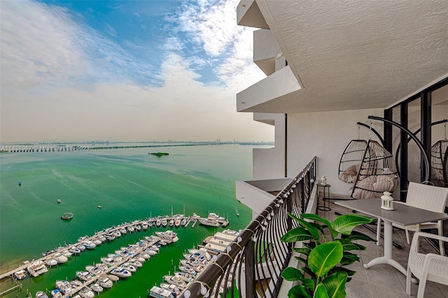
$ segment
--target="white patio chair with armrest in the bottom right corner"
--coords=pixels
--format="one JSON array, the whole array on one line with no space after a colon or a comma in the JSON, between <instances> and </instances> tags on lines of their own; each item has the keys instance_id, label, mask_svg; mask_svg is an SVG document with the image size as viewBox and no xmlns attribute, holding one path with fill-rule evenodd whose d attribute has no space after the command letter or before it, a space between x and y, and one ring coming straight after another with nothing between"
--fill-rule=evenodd
<instances>
[{"instance_id":1,"label":"white patio chair with armrest in the bottom right corner","mask_svg":"<svg viewBox=\"0 0 448 298\"><path fill-rule=\"evenodd\" d=\"M434 253L419 253L419 238L426 237L448 242L448 237L416 232L412 238L409 260L407 261L406 294L411 295L412 274L419 279L419 292L417 298L423 298L426 281L448 285L448 257Z\"/></svg>"}]
</instances>

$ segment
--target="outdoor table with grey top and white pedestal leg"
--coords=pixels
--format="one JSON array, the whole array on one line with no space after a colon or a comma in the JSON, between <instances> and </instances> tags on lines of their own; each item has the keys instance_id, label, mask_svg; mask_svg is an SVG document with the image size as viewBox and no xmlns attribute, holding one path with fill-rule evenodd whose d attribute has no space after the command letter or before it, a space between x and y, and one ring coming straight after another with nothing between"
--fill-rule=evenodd
<instances>
[{"instance_id":1,"label":"outdoor table with grey top and white pedestal leg","mask_svg":"<svg viewBox=\"0 0 448 298\"><path fill-rule=\"evenodd\" d=\"M397 223L402 226L419 225L423 222L434 222L448 219L446 213L428 211L421 208L408 206L398 201L393 202L394 210L381 208L381 199L356 199L351 201L335 201L335 204L349 208L373 218L384 220L384 255L376 257L367 264L363 264L365 269L377 264L389 264L398 269L406 276L406 269L392 257L392 224ZM413 283L416 280L413 278Z\"/></svg>"}]
</instances>

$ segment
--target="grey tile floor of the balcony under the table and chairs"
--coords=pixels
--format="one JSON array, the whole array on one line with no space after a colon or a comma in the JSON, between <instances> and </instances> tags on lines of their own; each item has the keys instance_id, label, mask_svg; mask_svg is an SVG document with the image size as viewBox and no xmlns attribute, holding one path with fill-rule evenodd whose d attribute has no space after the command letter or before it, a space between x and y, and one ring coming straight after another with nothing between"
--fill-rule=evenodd
<instances>
[{"instance_id":1,"label":"grey tile floor of the balcony under the table and chairs","mask_svg":"<svg viewBox=\"0 0 448 298\"><path fill-rule=\"evenodd\" d=\"M335 197L335 196L331 196ZM340 196L338 196L341 198ZM327 202L328 204L328 202ZM319 205L323 205L320 198ZM334 204L334 201L330 200L331 211L317 211L317 214L332 220L337 215L335 211L339 213L351 213L351 210ZM376 229L376 225L372 225ZM376 238L376 234L371 232L365 227L358 227L359 232L363 232L373 239ZM444 231L448 231L445 227ZM446 233L445 233L446 234ZM412 237L412 232L410 234ZM407 268L407 256L409 254L409 245L406 242L405 232L400 229L393 229L393 241L398 243L402 248L393 248L393 258ZM412 241L412 240L411 240ZM364 269L363 263L370 262L374 257L383 255L383 241L379 241L379 246L376 243L363 241L364 246L367 246L366 250L359 251L361 262L351 264L349 269L355 270L356 274L353 279L346 284L346 294L348 298L406 298L416 297L418 291L418 285L412 284L411 296L406 295L406 276L401 274L400 271L395 268L380 264L370 269ZM422 250L428 251L428 253L436 253L428 242L423 240L421 242ZM439 283L428 282L426 283L425 297L427 298L448 298L448 286Z\"/></svg>"}]
</instances>

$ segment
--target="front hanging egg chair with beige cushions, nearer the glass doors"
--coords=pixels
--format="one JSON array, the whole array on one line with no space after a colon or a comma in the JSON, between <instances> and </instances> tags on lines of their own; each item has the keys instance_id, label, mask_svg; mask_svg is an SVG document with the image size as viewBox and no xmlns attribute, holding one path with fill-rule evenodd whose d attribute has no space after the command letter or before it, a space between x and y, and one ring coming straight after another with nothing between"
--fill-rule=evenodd
<instances>
[{"instance_id":1,"label":"front hanging egg chair with beige cushions, nearer the glass doors","mask_svg":"<svg viewBox=\"0 0 448 298\"><path fill-rule=\"evenodd\" d=\"M393 192L399 182L393 155L377 141L367 141L354 184L349 187L350 196L353 199L381 197L383 192Z\"/></svg>"}]
</instances>

